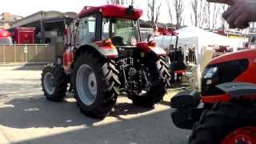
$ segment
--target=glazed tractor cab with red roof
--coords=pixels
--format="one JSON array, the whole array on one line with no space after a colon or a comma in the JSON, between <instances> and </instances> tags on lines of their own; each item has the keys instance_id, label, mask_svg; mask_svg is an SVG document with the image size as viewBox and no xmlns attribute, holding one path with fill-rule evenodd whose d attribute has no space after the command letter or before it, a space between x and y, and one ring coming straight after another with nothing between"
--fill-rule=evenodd
<instances>
[{"instance_id":1,"label":"glazed tractor cab with red roof","mask_svg":"<svg viewBox=\"0 0 256 144\"><path fill-rule=\"evenodd\" d=\"M78 15L78 44L136 46L141 40L138 18L142 10L133 6L86 6Z\"/></svg>"}]
</instances>

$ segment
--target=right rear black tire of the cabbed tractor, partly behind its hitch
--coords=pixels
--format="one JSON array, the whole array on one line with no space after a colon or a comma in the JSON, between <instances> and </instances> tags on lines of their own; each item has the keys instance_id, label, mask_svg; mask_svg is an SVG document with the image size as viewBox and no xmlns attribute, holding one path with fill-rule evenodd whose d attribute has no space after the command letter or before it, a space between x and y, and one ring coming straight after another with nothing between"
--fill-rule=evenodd
<instances>
[{"instance_id":1,"label":"right rear black tire of the cabbed tractor, partly behind its hitch","mask_svg":"<svg viewBox=\"0 0 256 144\"><path fill-rule=\"evenodd\" d=\"M134 94L131 96L134 105L153 107L155 103L162 100L166 94L166 86L170 82L168 66L164 58L150 57L146 59L146 64L150 72L151 86L146 95Z\"/></svg>"}]
</instances>

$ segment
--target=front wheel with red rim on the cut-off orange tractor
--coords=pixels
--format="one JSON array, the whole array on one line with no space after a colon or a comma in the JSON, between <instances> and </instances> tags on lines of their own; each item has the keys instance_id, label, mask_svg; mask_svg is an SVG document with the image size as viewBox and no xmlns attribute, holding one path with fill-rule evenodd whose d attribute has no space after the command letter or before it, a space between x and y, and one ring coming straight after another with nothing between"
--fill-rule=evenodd
<instances>
[{"instance_id":1,"label":"front wheel with red rim on the cut-off orange tractor","mask_svg":"<svg viewBox=\"0 0 256 144\"><path fill-rule=\"evenodd\" d=\"M256 134L254 108L235 103L220 103L213 110L206 111L194 124L190 144L236 144L254 143ZM251 113L251 114L250 114Z\"/></svg>"}]
</instances>

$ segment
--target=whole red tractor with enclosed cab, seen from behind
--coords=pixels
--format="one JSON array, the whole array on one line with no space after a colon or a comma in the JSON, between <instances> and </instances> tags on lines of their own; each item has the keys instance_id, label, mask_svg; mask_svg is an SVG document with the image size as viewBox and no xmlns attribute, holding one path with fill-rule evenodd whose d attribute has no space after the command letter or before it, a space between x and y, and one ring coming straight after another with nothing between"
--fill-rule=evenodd
<instances>
[{"instance_id":1,"label":"whole red tractor with enclosed cab, seen from behind","mask_svg":"<svg viewBox=\"0 0 256 144\"><path fill-rule=\"evenodd\" d=\"M50 101L66 96L67 86L82 113L96 118L110 114L118 95L135 105L154 106L170 81L166 52L154 41L141 42L133 6L86 6L64 34L63 64L42 71L42 90Z\"/></svg>"}]
</instances>

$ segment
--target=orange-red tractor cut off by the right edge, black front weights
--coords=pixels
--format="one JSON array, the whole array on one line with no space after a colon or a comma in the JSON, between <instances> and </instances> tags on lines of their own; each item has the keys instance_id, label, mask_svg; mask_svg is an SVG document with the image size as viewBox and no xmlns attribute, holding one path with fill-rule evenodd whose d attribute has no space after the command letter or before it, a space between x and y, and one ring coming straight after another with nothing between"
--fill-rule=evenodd
<instances>
[{"instance_id":1,"label":"orange-red tractor cut off by the right edge, black front weights","mask_svg":"<svg viewBox=\"0 0 256 144\"><path fill-rule=\"evenodd\" d=\"M202 90L171 98L174 125L192 130L190 144L256 143L256 50L214 58L202 74Z\"/></svg>"}]
</instances>

